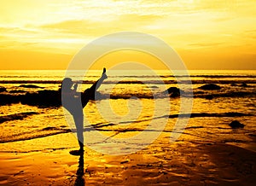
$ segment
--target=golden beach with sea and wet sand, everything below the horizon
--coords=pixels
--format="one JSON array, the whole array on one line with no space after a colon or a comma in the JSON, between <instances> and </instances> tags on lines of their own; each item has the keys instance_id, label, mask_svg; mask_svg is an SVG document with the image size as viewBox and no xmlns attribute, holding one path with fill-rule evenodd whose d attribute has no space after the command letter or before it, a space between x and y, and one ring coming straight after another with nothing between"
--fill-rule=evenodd
<instances>
[{"instance_id":1,"label":"golden beach with sea and wet sand, everything below the horizon","mask_svg":"<svg viewBox=\"0 0 256 186\"><path fill-rule=\"evenodd\" d=\"M192 72L193 92L168 73L160 84L145 72L109 72L101 99L84 108L84 154L74 156L73 119L57 99L65 72L2 71L0 184L255 185L256 72ZM181 112L192 95L191 112ZM177 121L187 123L175 130Z\"/></svg>"}]
</instances>

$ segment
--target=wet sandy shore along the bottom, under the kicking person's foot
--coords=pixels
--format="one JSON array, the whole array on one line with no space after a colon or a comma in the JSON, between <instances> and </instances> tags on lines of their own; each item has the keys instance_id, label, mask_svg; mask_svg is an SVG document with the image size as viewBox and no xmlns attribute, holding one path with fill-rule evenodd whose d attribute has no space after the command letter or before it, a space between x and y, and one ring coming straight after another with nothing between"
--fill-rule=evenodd
<instances>
[{"instance_id":1,"label":"wet sandy shore along the bottom, under the kicking person's foot","mask_svg":"<svg viewBox=\"0 0 256 186\"><path fill-rule=\"evenodd\" d=\"M69 140L70 134L64 135ZM58 135L51 138L56 137ZM28 142L23 144L29 145ZM73 142L76 147L74 138ZM99 154L85 148L84 157L79 157L69 154L73 149L56 147L23 153L3 150L0 153L0 184L256 184L255 151L225 143L157 140L142 151L123 156Z\"/></svg>"}]
</instances>

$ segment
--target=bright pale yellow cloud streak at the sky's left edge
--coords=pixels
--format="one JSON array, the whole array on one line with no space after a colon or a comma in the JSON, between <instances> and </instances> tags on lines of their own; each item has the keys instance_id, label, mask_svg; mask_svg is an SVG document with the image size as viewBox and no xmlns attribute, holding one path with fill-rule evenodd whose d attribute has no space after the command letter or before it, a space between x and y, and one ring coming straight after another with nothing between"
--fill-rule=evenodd
<instances>
[{"instance_id":1,"label":"bright pale yellow cloud streak at the sky's left edge","mask_svg":"<svg viewBox=\"0 0 256 186\"><path fill-rule=\"evenodd\" d=\"M83 39L72 34L47 32L39 28L0 27L1 49L45 51L49 53L72 53L84 44Z\"/></svg>"}]
</instances>

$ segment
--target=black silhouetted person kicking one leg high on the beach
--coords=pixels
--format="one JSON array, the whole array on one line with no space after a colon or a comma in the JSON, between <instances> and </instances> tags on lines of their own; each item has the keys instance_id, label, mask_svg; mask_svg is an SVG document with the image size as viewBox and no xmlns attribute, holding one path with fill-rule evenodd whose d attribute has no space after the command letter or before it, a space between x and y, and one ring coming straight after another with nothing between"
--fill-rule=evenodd
<instances>
[{"instance_id":1,"label":"black silhouetted person kicking one leg high on the beach","mask_svg":"<svg viewBox=\"0 0 256 186\"><path fill-rule=\"evenodd\" d=\"M84 92L77 92L78 84L73 83L71 78L64 78L61 84L62 106L73 115L74 123L77 128L79 140L79 151L77 154L84 153L84 113L83 108L86 104L95 98L96 90L101 86L104 79L108 78L106 68L103 68L102 77L95 84ZM73 89L72 89L73 87Z\"/></svg>"}]
</instances>

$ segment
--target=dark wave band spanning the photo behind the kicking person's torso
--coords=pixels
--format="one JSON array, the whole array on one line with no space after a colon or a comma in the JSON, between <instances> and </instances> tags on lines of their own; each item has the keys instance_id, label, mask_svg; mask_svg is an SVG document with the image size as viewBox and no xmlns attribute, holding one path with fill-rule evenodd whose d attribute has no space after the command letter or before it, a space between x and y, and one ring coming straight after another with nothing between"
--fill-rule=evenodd
<instances>
[{"instance_id":1,"label":"dark wave band spanning the photo behind the kicking person's torso","mask_svg":"<svg viewBox=\"0 0 256 186\"><path fill-rule=\"evenodd\" d=\"M182 92L180 94L179 91L165 93L158 92L153 95L152 92L142 92L142 93L113 93L111 95L102 94L100 92L96 92L96 99L131 99L131 98L142 98L142 99L161 99L166 96L170 96L172 98L183 97L194 97L194 98L206 98L213 99L218 97L255 97L256 91L251 89L252 87L243 88L241 90L229 90L227 88L223 88L221 91L218 90L194 90L194 92ZM167 94L167 95L166 95ZM25 105L38 106L38 107L60 107L61 106L61 91L59 90L38 90L37 92L24 92L19 93L0 93L0 105L8 105L13 103L21 103Z\"/></svg>"}]
</instances>

